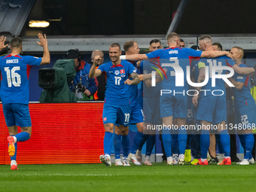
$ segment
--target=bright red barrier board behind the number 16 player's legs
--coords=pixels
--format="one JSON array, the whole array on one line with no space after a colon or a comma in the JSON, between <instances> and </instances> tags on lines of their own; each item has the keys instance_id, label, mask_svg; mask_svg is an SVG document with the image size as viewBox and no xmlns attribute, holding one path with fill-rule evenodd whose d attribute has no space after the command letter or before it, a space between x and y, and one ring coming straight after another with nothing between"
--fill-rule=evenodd
<instances>
[{"instance_id":1,"label":"bright red barrier board behind the number 16 player's legs","mask_svg":"<svg viewBox=\"0 0 256 192\"><path fill-rule=\"evenodd\" d=\"M31 103L32 137L18 142L17 163L100 163L103 103ZM20 127L19 127L20 133ZM10 164L8 128L0 106L0 164Z\"/></svg>"}]
</instances>

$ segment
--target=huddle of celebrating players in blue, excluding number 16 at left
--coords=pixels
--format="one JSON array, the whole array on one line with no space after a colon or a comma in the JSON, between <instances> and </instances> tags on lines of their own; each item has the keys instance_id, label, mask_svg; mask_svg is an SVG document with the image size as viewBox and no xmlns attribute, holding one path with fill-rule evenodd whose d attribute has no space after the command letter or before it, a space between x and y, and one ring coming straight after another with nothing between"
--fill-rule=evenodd
<instances>
[{"instance_id":1,"label":"huddle of celebrating players in blue, excluding number 16 at left","mask_svg":"<svg viewBox=\"0 0 256 192\"><path fill-rule=\"evenodd\" d=\"M111 62L103 64L96 71L95 66L100 61L100 57L98 56L94 59L93 67L90 69L90 78L95 78L102 72L107 74L107 90L102 114L105 126L105 154L99 157L102 163L111 166L110 154L114 141L115 165L130 166L129 161L133 161L136 165L141 165L142 145L149 139L144 163L145 165L151 165L149 154L151 154L150 150L154 146L154 142L152 142L154 139L151 139L150 136L154 136L154 133L144 134L143 130L145 132L148 124L155 124L161 119L166 127L173 127L173 123L178 126L176 130L178 134L171 134L170 129L163 129L162 132L167 164L178 163L183 165L184 152L187 145L187 130L184 127L188 112L191 112L190 104L193 102L193 105L197 108L197 120L200 120L202 127L200 133L201 157L194 164L208 165L209 127L214 124L220 136L221 146L219 148L222 148L220 151L224 154L223 160L218 164L230 165L230 136L226 129L227 104L225 86L235 87L236 123L243 127L242 130L237 131L242 147L245 149L245 157L239 164L248 165L249 163L254 163L251 151L254 145L252 129L255 126L256 106L250 93L248 81L249 75L254 73L254 69L242 64L244 54L242 48L233 47L230 53L227 51L215 51L212 48L212 38L209 35L200 37L200 50L182 48L180 47L180 37L174 32L168 35L167 42L169 47L166 49L162 49L160 42L157 42L157 44L154 42L153 45L151 44L152 47L158 48L147 54L138 54L139 47L136 42L126 42L123 46L124 50L126 50L126 56L120 56L119 44L111 44L109 49ZM131 46L126 49L126 45L129 43ZM148 60L148 62L136 62L142 60ZM191 93L187 93L189 87L186 75L182 76L182 72L187 74L187 66L190 65L191 76L193 76L194 82L198 83L194 84L193 98L190 97ZM157 66L158 69L154 66ZM140 69L144 74L137 75L136 69ZM235 71L234 75L233 70ZM158 76L156 76L156 72L159 72ZM204 84L206 79L206 84ZM143 112L139 113L142 108L138 107L139 99L136 95L136 89L134 89L136 84L139 84L139 80L145 81L143 86L144 126L140 126L140 123L143 122ZM184 86L178 86L177 80L182 81ZM159 85L155 86L157 83ZM214 85L212 86L212 84ZM147 87L149 91L145 90L145 88L148 89ZM169 92L164 93L166 90ZM216 90L221 94L215 94ZM207 94L207 91L212 94ZM160 114L160 118L157 117L157 114ZM154 120L154 118L157 120ZM136 123L138 128L130 154L130 139L127 139L129 138L129 123ZM118 126L114 129L114 125ZM172 133L174 131L172 130ZM113 133L114 139L112 139ZM172 141L173 139L175 139L175 142ZM175 150L174 145L177 144L178 160L175 160L172 156L172 151ZM123 145L123 163L120 160L120 145Z\"/></svg>"}]
</instances>

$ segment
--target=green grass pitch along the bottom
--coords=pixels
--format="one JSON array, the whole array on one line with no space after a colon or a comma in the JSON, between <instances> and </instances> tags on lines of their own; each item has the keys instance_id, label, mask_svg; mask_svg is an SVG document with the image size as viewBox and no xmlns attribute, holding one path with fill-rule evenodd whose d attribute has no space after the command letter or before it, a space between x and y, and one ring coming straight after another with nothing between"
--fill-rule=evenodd
<instances>
[{"instance_id":1,"label":"green grass pitch along the bottom","mask_svg":"<svg viewBox=\"0 0 256 192\"><path fill-rule=\"evenodd\" d=\"M114 166L103 164L0 166L0 191L255 191L256 165Z\"/></svg>"}]
</instances>

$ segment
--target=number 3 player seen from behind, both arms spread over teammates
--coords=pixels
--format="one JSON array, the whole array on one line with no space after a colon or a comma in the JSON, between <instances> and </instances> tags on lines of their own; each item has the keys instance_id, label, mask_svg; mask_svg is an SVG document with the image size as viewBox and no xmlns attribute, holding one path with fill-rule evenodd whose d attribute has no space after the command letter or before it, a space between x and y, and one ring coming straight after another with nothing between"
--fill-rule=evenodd
<instances>
[{"instance_id":1,"label":"number 3 player seen from behind, both arms spread over teammates","mask_svg":"<svg viewBox=\"0 0 256 192\"><path fill-rule=\"evenodd\" d=\"M192 57L217 57L229 54L227 51L197 51L190 48L179 47L180 37L177 33L172 32L167 37L169 48L163 50L155 50L148 54L137 54L130 56L122 56L122 59L142 60L151 58L160 58L162 67L166 67L166 80L162 81L162 90L168 89L168 93L160 96L160 116L163 118L163 126L172 126L172 117L177 117L178 123L178 143L179 143L179 164L184 164L184 151L187 143L187 132L183 129L186 124L187 117L187 92L188 84L186 81L188 59ZM175 70L174 70L175 69ZM176 75L175 75L176 74ZM183 76L183 78L182 78ZM175 80L177 78L177 80ZM184 82L186 82L184 84ZM184 87L182 87L182 83ZM177 84L177 86L175 86ZM180 86L181 87L178 87ZM170 91L171 90L171 91ZM176 93L176 94L175 94ZM163 129L163 144L166 151L167 163L172 165L172 137L170 130Z\"/></svg>"}]
</instances>

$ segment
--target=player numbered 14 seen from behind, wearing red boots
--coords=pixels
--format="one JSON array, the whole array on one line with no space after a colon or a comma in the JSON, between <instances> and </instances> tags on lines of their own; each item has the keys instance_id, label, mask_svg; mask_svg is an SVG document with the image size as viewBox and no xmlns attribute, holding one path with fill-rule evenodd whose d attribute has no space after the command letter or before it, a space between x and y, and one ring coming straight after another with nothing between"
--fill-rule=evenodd
<instances>
[{"instance_id":1,"label":"player numbered 14 seen from behind, wearing red boots","mask_svg":"<svg viewBox=\"0 0 256 192\"><path fill-rule=\"evenodd\" d=\"M212 48L212 38L209 35L203 35L200 37L200 50L213 50ZM220 51L216 51L220 52ZM197 91L200 94L200 102L197 103L197 98L199 97L198 93L195 93L192 102L195 106L198 105L197 109L197 120L201 121L202 125L202 133L200 137L200 145L201 145L201 160L199 160L199 165L208 165L207 161L207 151L209 149L209 128L212 125L215 125L218 133L221 135L221 144L224 148L224 160L220 165L230 165L230 136L227 133L225 128L226 122L226 89L225 89L225 81L221 78L215 79L215 87L212 87L212 67L214 66L230 66L236 72L249 74L254 72L254 69L245 69L240 68L239 66L235 65L233 59L230 59L227 56L220 56L216 59L200 59L198 63L199 68L199 77L197 82L201 83L205 80L206 76L206 66L209 66L209 81L208 83L202 88L197 87ZM219 69L216 70L218 75L225 75L226 70ZM218 93L214 94L215 90ZM221 91L221 93L220 93ZM208 92L208 93L207 93Z\"/></svg>"}]
</instances>

